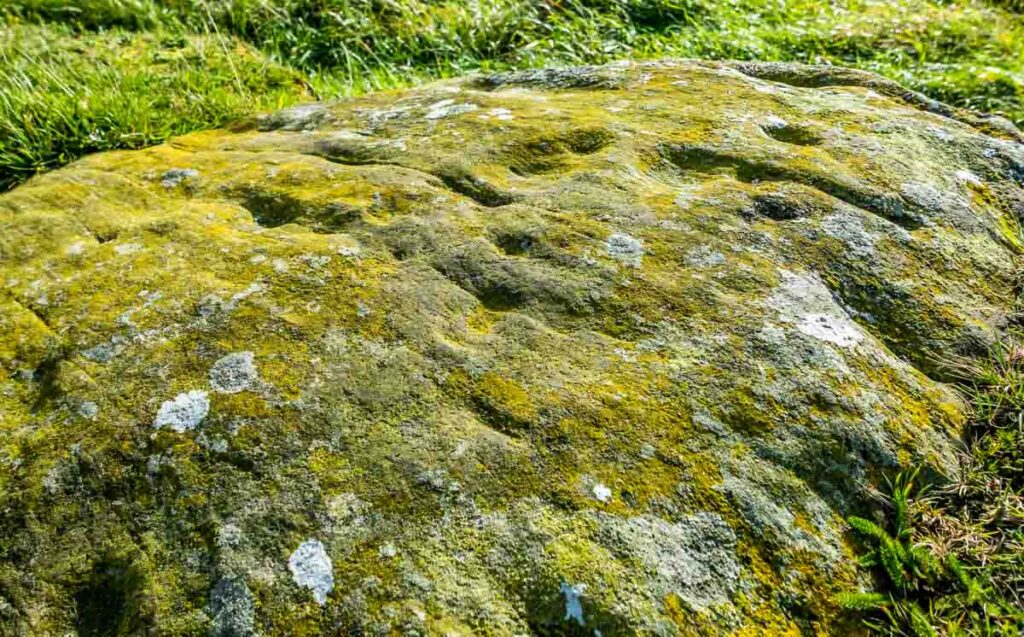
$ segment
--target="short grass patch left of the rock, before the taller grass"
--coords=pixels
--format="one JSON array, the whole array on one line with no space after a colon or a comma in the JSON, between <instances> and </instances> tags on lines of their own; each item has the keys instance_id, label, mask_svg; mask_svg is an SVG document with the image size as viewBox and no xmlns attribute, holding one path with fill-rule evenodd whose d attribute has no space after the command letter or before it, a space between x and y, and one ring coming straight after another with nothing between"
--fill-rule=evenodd
<instances>
[{"instance_id":1,"label":"short grass patch left of the rock, before the taller grass","mask_svg":"<svg viewBox=\"0 0 1024 637\"><path fill-rule=\"evenodd\" d=\"M0 190L87 153L308 98L299 74L208 37L0 29Z\"/></svg>"}]
</instances>

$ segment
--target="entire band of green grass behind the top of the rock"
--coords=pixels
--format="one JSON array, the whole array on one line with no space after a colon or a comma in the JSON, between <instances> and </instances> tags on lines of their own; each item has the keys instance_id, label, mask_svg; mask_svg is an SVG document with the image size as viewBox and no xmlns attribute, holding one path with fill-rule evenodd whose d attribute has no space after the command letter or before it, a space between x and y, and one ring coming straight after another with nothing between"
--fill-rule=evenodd
<instances>
[{"instance_id":1,"label":"entire band of green grass behind the top of the rock","mask_svg":"<svg viewBox=\"0 0 1024 637\"><path fill-rule=\"evenodd\" d=\"M246 112L475 70L842 63L1024 123L1019 0L7 0L0 189ZM4 26L5 25L5 26Z\"/></svg>"}]
</instances>

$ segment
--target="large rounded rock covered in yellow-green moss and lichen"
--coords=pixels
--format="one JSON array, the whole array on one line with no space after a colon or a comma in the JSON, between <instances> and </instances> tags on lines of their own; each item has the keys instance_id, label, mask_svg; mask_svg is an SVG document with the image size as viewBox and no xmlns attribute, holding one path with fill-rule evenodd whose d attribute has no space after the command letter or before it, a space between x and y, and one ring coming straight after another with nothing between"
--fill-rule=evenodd
<instances>
[{"instance_id":1,"label":"large rounded rock covered in yellow-green moss and lichen","mask_svg":"<svg viewBox=\"0 0 1024 637\"><path fill-rule=\"evenodd\" d=\"M311 104L0 197L0 634L841 633L954 469L1024 151L687 61Z\"/></svg>"}]
</instances>

